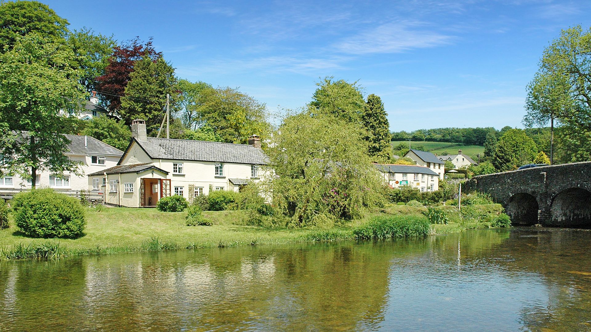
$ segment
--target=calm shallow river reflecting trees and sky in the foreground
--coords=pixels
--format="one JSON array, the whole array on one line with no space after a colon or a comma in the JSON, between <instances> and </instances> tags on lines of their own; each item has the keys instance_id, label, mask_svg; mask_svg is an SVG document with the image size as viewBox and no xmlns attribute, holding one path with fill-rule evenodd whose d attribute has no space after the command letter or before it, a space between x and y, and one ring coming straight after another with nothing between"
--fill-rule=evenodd
<instances>
[{"instance_id":1,"label":"calm shallow river reflecting trees and sky in the foreground","mask_svg":"<svg viewBox=\"0 0 591 332\"><path fill-rule=\"evenodd\" d=\"M591 232L0 262L0 331L589 331Z\"/></svg>"}]
</instances>

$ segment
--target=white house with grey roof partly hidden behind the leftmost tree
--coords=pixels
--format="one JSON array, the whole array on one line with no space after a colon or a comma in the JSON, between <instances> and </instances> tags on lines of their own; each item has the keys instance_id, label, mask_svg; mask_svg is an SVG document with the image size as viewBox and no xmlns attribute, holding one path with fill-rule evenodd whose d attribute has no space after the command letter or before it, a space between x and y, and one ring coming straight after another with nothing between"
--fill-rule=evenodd
<instances>
[{"instance_id":1,"label":"white house with grey roof partly hidden behind the leftmost tree","mask_svg":"<svg viewBox=\"0 0 591 332\"><path fill-rule=\"evenodd\" d=\"M71 160L82 162L82 175L64 172L54 176L47 171L37 172L37 187L50 187L61 191L90 190L87 174L102 171L117 164L123 151L111 147L96 138L82 135L65 135L69 139L69 151L66 155ZM16 193L31 188L31 180L15 176L0 177L2 193Z\"/></svg>"}]
</instances>

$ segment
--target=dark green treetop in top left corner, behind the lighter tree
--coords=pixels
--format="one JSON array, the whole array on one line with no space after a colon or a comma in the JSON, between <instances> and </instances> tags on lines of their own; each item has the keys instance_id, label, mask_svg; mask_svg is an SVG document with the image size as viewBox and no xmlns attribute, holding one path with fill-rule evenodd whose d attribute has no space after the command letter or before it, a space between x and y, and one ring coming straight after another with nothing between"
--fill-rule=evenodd
<instances>
[{"instance_id":1,"label":"dark green treetop in top left corner, behind the lighter tree","mask_svg":"<svg viewBox=\"0 0 591 332\"><path fill-rule=\"evenodd\" d=\"M35 33L45 42L63 44L66 19L38 1L0 2L0 53L11 50L18 38Z\"/></svg>"}]
</instances>

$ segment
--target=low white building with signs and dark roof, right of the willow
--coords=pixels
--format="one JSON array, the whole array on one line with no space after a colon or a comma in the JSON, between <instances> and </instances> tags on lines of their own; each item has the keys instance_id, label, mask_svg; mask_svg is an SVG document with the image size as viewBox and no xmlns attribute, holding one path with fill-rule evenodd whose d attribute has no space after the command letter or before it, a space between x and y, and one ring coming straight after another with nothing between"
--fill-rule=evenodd
<instances>
[{"instance_id":1,"label":"low white building with signs and dark roof, right of the willow","mask_svg":"<svg viewBox=\"0 0 591 332\"><path fill-rule=\"evenodd\" d=\"M439 174L416 165L375 164L390 188L411 187L420 191L439 190Z\"/></svg>"}]
</instances>

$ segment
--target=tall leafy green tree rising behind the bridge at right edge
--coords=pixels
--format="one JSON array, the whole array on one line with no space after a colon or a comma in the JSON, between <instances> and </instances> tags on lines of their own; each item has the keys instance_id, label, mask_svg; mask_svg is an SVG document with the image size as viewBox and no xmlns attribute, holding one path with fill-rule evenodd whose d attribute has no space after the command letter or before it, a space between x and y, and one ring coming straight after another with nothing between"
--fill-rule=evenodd
<instances>
[{"instance_id":1,"label":"tall leafy green tree rising behind the bridge at right edge","mask_svg":"<svg viewBox=\"0 0 591 332\"><path fill-rule=\"evenodd\" d=\"M525 120L535 124L556 117L565 127L560 141L570 152L566 161L591 160L590 82L591 28L563 30L544 50L529 87Z\"/></svg>"}]
</instances>

